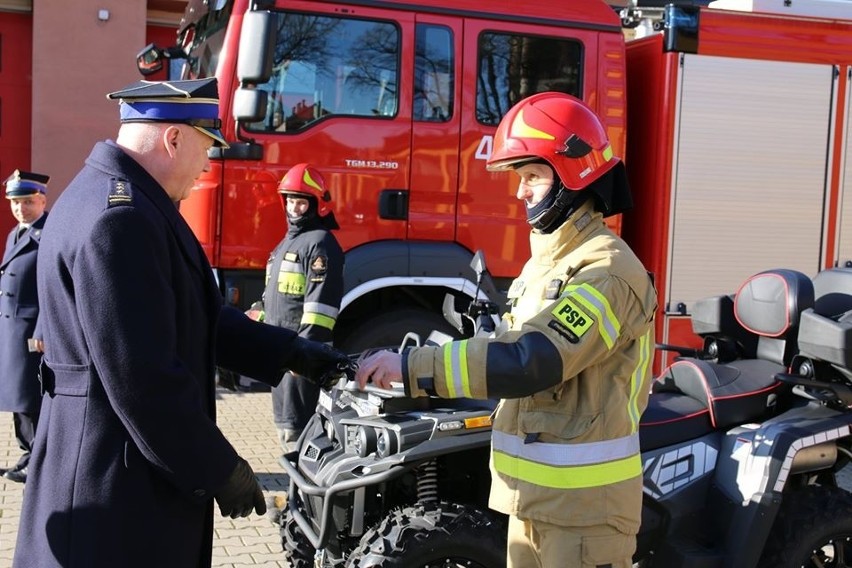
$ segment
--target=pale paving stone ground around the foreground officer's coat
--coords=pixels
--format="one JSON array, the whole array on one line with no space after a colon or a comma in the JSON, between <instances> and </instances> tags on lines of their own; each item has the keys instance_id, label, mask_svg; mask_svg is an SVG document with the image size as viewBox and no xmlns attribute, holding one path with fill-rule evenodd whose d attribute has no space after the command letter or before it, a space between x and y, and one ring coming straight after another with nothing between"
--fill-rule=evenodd
<instances>
[{"instance_id":1,"label":"pale paving stone ground around the foreground officer's coat","mask_svg":"<svg viewBox=\"0 0 852 568\"><path fill-rule=\"evenodd\" d=\"M233 393L220 389L218 422L225 436L251 464L265 495L280 495L284 471L269 392ZM0 413L0 467L13 465L20 455L12 429L12 415ZM25 486L0 477L0 568L11 568L18 534L18 517ZM218 568L286 568L281 559L278 529L264 517L229 519L216 514L213 566Z\"/></svg>"}]
</instances>

